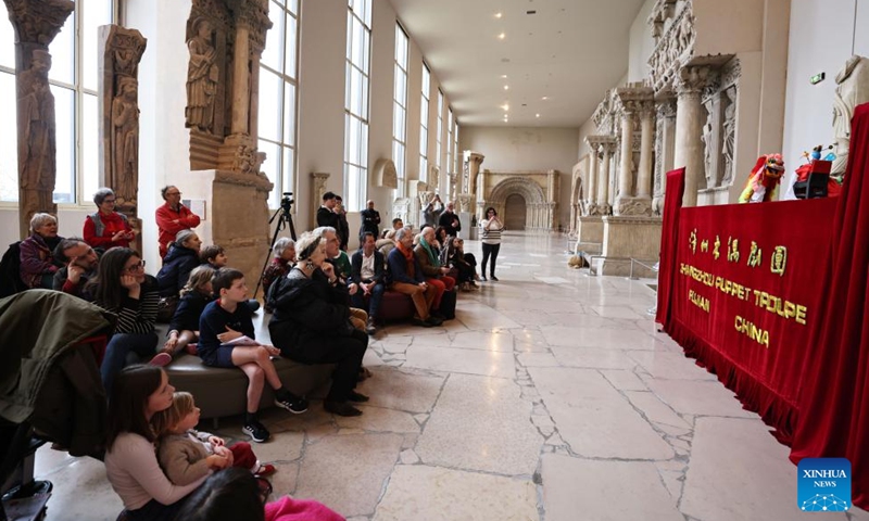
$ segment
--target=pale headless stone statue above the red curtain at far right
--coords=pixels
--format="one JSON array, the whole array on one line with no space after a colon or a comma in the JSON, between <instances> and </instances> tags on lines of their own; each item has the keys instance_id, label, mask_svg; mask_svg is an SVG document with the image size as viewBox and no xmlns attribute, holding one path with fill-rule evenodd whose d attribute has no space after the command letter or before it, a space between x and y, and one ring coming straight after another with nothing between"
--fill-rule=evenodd
<instances>
[{"instance_id":1,"label":"pale headless stone statue above the red curtain at far right","mask_svg":"<svg viewBox=\"0 0 869 521\"><path fill-rule=\"evenodd\" d=\"M839 87L833 98L833 136L835 139L835 161L832 175L841 179L845 175L851 145L851 118L854 107L869 101L869 59L853 55L845 62L845 68L835 77Z\"/></svg>"}]
</instances>

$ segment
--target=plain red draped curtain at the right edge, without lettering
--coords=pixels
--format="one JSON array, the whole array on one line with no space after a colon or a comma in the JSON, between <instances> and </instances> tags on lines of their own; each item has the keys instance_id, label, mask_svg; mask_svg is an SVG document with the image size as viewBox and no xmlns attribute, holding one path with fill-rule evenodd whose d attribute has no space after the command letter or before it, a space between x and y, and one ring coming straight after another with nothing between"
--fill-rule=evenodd
<instances>
[{"instance_id":1,"label":"plain red draped curtain at the right edge, without lettering","mask_svg":"<svg viewBox=\"0 0 869 521\"><path fill-rule=\"evenodd\" d=\"M832 241L820 251L823 307L804 360L791 460L848 458L852 501L869 509L869 104L855 110L852 123Z\"/></svg>"}]
</instances>

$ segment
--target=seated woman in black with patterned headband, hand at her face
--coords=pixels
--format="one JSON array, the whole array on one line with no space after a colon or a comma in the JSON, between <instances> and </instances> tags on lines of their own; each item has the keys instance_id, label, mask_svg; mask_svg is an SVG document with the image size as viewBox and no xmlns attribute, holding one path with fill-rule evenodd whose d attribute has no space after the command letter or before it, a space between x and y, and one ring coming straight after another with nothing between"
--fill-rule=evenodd
<instances>
[{"instance_id":1,"label":"seated woman in black with patterned headband, hand at her face","mask_svg":"<svg viewBox=\"0 0 869 521\"><path fill-rule=\"evenodd\" d=\"M350 321L347 289L326 263L327 239L302 234L295 244L299 262L275 282L268 322L272 341L284 356L302 364L336 364L324 408L339 416L360 416L349 402L367 402L355 392L368 335Z\"/></svg>"}]
</instances>

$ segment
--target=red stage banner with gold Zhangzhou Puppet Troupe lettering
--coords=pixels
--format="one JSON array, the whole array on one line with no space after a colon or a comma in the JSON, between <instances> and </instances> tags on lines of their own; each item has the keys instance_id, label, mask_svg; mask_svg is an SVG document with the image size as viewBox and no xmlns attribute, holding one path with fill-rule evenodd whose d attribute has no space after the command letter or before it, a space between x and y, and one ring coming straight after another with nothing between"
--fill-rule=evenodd
<instances>
[{"instance_id":1,"label":"red stage banner with gold Zhangzhou Puppet Troupe lettering","mask_svg":"<svg viewBox=\"0 0 869 521\"><path fill-rule=\"evenodd\" d=\"M682 208L665 326L788 443L836 200Z\"/></svg>"}]
</instances>

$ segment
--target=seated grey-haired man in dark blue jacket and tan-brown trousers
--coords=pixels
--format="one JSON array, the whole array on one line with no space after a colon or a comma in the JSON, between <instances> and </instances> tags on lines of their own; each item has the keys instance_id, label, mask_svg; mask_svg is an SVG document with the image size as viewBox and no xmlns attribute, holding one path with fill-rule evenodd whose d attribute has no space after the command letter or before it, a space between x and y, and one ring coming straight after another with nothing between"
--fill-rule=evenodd
<instances>
[{"instance_id":1,"label":"seated grey-haired man in dark blue jacket and tan-brown trousers","mask_svg":"<svg viewBox=\"0 0 869 521\"><path fill-rule=\"evenodd\" d=\"M413 250L413 231L402 228L395 233L398 244L389 252L387 263L392 276L390 288L399 293L411 295L414 301L416 314L413 322L424 328L440 326L443 320L432 317L429 309L434 301L434 288L426 283L423 268L419 266Z\"/></svg>"}]
</instances>

